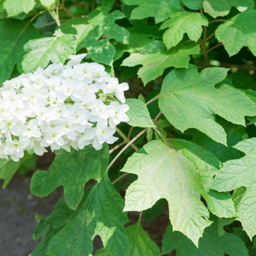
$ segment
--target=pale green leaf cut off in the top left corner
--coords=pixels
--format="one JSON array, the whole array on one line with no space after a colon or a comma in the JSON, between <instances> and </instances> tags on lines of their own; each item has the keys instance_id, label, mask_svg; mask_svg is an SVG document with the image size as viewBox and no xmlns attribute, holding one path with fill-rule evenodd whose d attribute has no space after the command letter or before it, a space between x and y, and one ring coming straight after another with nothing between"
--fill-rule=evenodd
<instances>
[{"instance_id":1,"label":"pale green leaf cut off in the top left corner","mask_svg":"<svg viewBox=\"0 0 256 256\"><path fill-rule=\"evenodd\" d=\"M8 13L8 17L16 16L20 12L29 13L34 8L34 0L5 0L4 9Z\"/></svg>"}]
</instances>

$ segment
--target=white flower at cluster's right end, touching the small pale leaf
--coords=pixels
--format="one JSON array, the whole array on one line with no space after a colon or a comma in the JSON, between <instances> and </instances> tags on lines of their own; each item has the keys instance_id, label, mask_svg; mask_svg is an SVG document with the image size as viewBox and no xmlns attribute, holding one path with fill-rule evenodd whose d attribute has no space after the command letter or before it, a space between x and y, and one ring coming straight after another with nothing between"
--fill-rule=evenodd
<instances>
[{"instance_id":1,"label":"white flower at cluster's right end, touching the small pale leaf","mask_svg":"<svg viewBox=\"0 0 256 256\"><path fill-rule=\"evenodd\" d=\"M115 128L116 125L119 124L121 121L129 121L129 117L125 114L125 112L129 110L129 105L120 104L117 101L112 101L110 105L114 106L115 108L115 115L111 116L109 119L109 124L111 128Z\"/></svg>"}]
</instances>

